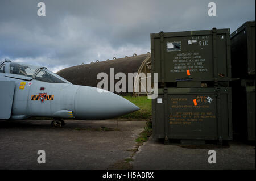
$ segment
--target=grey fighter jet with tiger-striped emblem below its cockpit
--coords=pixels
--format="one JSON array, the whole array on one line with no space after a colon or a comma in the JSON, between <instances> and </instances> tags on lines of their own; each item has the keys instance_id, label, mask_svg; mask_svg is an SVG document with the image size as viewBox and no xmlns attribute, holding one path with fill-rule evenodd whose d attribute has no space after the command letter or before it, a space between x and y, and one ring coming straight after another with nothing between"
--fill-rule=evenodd
<instances>
[{"instance_id":1,"label":"grey fighter jet with tiger-striped emblem below its cockpit","mask_svg":"<svg viewBox=\"0 0 256 181\"><path fill-rule=\"evenodd\" d=\"M61 119L109 119L137 110L117 94L73 85L45 67L0 61L0 120L53 117L52 125L61 126Z\"/></svg>"}]
</instances>

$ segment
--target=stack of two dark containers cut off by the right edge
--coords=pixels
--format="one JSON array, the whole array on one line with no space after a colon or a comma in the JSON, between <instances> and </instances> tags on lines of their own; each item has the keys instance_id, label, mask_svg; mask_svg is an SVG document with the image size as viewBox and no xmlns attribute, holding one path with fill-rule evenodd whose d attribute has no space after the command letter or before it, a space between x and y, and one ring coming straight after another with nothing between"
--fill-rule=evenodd
<instances>
[{"instance_id":1,"label":"stack of two dark containers cut off by the right edge","mask_svg":"<svg viewBox=\"0 0 256 181\"><path fill-rule=\"evenodd\" d=\"M255 141L255 21L245 22L230 36L234 137Z\"/></svg>"}]
</instances>

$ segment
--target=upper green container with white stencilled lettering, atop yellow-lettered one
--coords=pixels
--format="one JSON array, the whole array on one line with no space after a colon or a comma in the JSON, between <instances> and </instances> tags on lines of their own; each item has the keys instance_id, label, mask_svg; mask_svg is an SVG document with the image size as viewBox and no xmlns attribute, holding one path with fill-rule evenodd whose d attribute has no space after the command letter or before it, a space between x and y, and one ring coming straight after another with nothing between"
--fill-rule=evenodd
<instances>
[{"instance_id":1,"label":"upper green container with white stencilled lettering, atop yellow-lettered one","mask_svg":"<svg viewBox=\"0 0 256 181\"><path fill-rule=\"evenodd\" d=\"M229 80L230 30L152 33L151 58L162 83Z\"/></svg>"}]
</instances>

